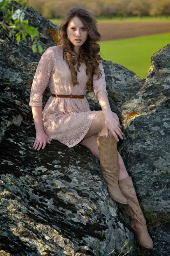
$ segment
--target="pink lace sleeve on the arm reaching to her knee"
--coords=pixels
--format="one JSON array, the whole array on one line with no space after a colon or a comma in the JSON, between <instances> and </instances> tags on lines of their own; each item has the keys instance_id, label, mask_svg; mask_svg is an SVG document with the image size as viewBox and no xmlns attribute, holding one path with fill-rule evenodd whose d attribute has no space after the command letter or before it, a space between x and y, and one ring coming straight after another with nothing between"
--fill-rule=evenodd
<instances>
[{"instance_id":1,"label":"pink lace sleeve on the arm reaching to her knee","mask_svg":"<svg viewBox=\"0 0 170 256\"><path fill-rule=\"evenodd\" d=\"M98 100L98 97L97 97L98 91L105 91L106 94L108 95L108 93L106 91L106 80L105 80L105 74L104 74L104 69L103 69L102 62L99 62L98 67L102 72L102 76L100 75L101 77L98 80L96 80L96 78L97 78L96 74L94 74L94 76L93 76L93 89L94 89L96 100Z\"/></svg>"}]
</instances>

